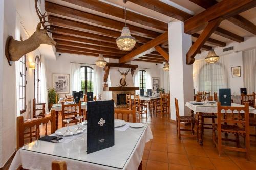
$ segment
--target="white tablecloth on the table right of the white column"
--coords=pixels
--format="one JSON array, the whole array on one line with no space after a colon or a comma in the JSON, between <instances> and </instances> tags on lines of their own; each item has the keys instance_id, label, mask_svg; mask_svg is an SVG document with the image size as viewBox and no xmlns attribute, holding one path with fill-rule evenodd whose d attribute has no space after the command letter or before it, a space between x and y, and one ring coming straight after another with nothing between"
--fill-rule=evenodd
<instances>
[{"instance_id":1,"label":"white tablecloth on the table right of the white column","mask_svg":"<svg viewBox=\"0 0 256 170\"><path fill-rule=\"evenodd\" d=\"M194 114L197 112L200 113L217 113L217 103L212 104L204 104L204 105L193 105L191 102L186 102L186 105L189 109L194 111ZM243 107L244 105L240 105L237 103L231 103L231 106ZM256 114L256 109L253 107L249 107L249 113Z\"/></svg>"}]
</instances>

